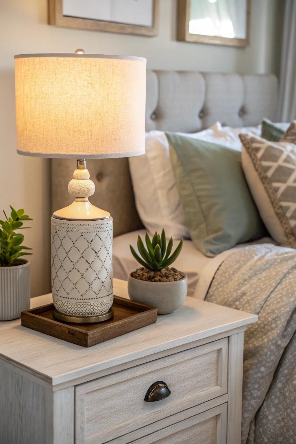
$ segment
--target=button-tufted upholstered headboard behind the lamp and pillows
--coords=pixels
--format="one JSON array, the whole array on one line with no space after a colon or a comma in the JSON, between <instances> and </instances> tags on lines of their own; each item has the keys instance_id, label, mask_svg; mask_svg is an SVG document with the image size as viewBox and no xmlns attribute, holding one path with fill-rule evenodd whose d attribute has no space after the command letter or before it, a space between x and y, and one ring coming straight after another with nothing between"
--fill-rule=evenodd
<instances>
[{"instance_id":1,"label":"button-tufted upholstered headboard behind the lamp and pillows","mask_svg":"<svg viewBox=\"0 0 296 444\"><path fill-rule=\"evenodd\" d=\"M220 121L232 127L275 121L274 75L239 75L189 71L147 71L146 131L195 132ZM69 205L73 159L52 159L52 211ZM142 228L134 203L128 159L87 160L95 182L91 202L110 211L114 236Z\"/></svg>"}]
</instances>

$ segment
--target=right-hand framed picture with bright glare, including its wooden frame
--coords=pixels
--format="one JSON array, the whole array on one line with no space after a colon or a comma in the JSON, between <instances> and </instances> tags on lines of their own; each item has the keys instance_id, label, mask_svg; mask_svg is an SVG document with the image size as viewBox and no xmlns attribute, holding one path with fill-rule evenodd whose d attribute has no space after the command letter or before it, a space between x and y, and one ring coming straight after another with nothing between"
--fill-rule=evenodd
<instances>
[{"instance_id":1,"label":"right-hand framed picture with bright glare, including its wooden frame","mask_svg":"<svg viewBox=\"0 0 296 444\"><path fill-rule=\"evenodd\" d=\"M178 40L249 46L251 0L178 0Z\"/></svg>"}]
</instances>

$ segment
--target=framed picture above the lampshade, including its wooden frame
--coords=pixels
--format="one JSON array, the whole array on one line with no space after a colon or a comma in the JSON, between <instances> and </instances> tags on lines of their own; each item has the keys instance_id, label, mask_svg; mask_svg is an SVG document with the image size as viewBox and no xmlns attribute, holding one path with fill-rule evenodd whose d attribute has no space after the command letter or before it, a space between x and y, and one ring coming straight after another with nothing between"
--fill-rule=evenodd
<instances>
[{"instance_id":1,"label":"framed picture above the lampshade, including its wooden frame","mask_svg":"<svg viewBox=\"0 0 296 444\"><path fill-rule=\"evenodd\" d=\"M156 36L159 0L48 0L49 24Z\"/></svg>"}]
</instances>

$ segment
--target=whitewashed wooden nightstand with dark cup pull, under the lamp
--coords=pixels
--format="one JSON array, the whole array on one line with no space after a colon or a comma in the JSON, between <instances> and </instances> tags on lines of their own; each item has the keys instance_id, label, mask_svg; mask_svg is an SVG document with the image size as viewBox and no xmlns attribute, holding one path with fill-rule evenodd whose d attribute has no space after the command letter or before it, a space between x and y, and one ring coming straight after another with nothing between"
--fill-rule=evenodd
<instances>
[{"instance_id":1,"label":"whitewashed wooden nightstand with dark cup pull, under the lamp","mask_svg":"<svg viewBox=\"0 0 296 444\"><path fill-rule=\"evenodd\" d=\"M126 287L114 279L114 294L127 297ZM239 444L244 330L256 321L187 297L90 348L1 322L0 443ZM146 402L159 381L170 396Z\"/></svg>"}]
</instances>

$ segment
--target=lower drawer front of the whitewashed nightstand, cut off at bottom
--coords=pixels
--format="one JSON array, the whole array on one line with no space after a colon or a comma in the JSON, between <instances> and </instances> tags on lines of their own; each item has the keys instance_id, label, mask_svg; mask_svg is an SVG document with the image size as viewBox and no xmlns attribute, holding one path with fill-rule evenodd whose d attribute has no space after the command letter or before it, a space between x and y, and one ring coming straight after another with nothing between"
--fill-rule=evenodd
<instances>
[{"instance_id":1,"label":"lower drawer front of the whitewashed nightstand, cut off at bottom","mask_svg":"<svg viewBox=\"0 0 296 444\"><path fill-rule=\"evenodd\" d=\"M131 444L226 444L227 404L144 436Z\"/></svg>"}]
</instances>

